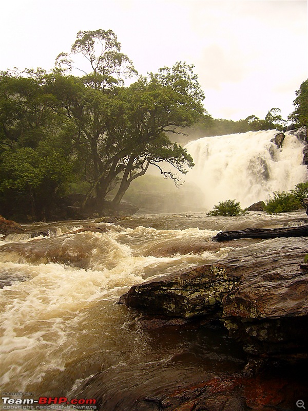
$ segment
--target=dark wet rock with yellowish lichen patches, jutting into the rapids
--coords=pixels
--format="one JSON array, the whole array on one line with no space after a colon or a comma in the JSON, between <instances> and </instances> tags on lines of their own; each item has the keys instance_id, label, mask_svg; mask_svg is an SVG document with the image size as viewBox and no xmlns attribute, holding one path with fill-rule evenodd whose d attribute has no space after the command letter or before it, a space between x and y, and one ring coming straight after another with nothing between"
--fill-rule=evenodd
<instances>
[{"instance_id":1,"label":"dark wet rock with yellowish lichen patches, jutting into the rapids","mask_svg":"<svg viewBox=\"0 0 308 411\"><path fill-rule=\"evenodd\" d=\"M189 318L221 311L223 295L236 284L224 268L205 265L133 286L119 303L149 313Z\"/></svg>"}]
</instances>

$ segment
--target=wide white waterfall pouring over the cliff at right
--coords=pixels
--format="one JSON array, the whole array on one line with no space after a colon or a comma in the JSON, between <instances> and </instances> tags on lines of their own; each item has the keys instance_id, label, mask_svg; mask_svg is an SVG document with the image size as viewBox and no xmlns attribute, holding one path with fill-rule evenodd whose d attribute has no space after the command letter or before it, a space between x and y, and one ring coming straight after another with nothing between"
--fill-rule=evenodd
<instances>
[{"instance_id":1,"label":"wide white waterfall pouring over the cliff at right","mask_svg":"<svg viewBox=\"0 0 308 411\"><path fill-rule=\"evenodd\" d=\"M266 130L190 141L186 148L195 167L185 181L203 191L203 206L211 209L220 201L235 199L241 207L249 207L274 191L288 191L306 181L304 143L286 133L278 148L271 142L277 133Z\"/></svg>"}]
</instances>

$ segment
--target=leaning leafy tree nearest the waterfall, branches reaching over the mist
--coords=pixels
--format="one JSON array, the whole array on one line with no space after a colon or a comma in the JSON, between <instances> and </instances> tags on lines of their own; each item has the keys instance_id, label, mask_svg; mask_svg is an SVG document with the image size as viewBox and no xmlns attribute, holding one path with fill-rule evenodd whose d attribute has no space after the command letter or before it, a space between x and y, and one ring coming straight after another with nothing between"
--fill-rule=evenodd
<instances>
[{"instance_id":1,"label":"leaning leafy tree nearest the waterfall, branches reaching over the mist","mask_svg":"<svg viewBox=\"0 0 308 411\"><path fill-rule=\"evenodd\" d=\"M176 184L180 183L177 171L186 174L186 167L194 165L187 151L177 143L172 144L167 136L177 133L179 127L191 125L203 112L204 95L192 68L176 63L172 68L150 73L148 78L141 77L125 90L128 122L122 142L126 141L129 154L122 162L121 183L113 199L115 206L131 181L144 175L150 164ZM162 163L171 165L171 170L165 171Z\"/></svg>"}]
</instances>

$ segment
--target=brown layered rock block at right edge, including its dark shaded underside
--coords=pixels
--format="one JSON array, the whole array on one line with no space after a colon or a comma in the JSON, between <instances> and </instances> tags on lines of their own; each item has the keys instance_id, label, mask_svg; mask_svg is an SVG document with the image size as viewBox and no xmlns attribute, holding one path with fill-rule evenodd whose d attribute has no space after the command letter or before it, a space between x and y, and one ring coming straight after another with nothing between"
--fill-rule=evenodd
<instances>
[{"instance_id":1,"label":"brown layered rock block at right edge, including its dark shaded underside","mask_svg":"<svg viewBox=\"0 0 308 411\"><path fill-rule=\"evenodd\" d=\"M275 255L224 261L239 287L223 298L223 317L246 352L296 361L308 358L308 272L300 267L308 243L282 244Z\"/></svg>"}]
</instances>

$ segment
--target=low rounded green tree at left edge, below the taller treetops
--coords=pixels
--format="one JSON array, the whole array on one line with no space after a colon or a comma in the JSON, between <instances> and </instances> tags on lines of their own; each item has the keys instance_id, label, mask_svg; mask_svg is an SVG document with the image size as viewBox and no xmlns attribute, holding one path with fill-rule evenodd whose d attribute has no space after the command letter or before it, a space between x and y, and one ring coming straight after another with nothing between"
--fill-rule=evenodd
<instances>
[{"instance_id":1,"label":"low rounded green tree at left edge, below the taller treetops","mask_svg":"<svg viewBox=\"0 0 308 411\"><path fill-rule=\"evenodd\" d=\"M44 218L61 185L71 177L71 167L63 152L47 141L36 150L30 147L6 150L0 155L0 193L8 200L3 207L24 209L32 219ZM27 210L28 199L30 209Z\"/></svg>"}]
</instances>

